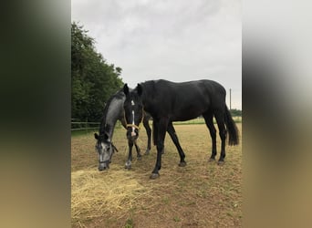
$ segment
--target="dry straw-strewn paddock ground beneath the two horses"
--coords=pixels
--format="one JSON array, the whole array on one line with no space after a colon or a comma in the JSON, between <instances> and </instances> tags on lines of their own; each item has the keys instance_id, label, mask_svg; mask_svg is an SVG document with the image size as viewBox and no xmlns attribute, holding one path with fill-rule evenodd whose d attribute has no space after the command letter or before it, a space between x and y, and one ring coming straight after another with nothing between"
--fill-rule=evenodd
<instances>
[{"instance_id":1,"label":"dry straw-strewn paddock ground beneath the two horses","mask_svg":"<svg viewBox=\"0 0 312 228\"><path fill-rule=\"evenodd\" d=\"M118 148L109 171L98 171L93 133L71 139L71 216L73 227L242 227L242 124L240 144L226 146L223 166L208 162L211 138L204 124L176 125L186 155L179 167L177 150L167 134L161 177L150 180L156 148L124 169L128 156L126 132L117 129ZM138 140L146 149L144 128ZM220 139L217 138L218 154Z\"/></svg>"}]
</instances>

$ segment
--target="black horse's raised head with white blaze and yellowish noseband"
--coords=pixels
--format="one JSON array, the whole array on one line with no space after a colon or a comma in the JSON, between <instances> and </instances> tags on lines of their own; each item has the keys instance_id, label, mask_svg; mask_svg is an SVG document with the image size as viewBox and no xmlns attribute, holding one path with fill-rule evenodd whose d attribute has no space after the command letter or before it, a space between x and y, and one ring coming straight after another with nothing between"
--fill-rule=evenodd
<instances>
[{"instance_id":1,"label":"black horse's raised head with white blaze and yellowish noseband","mask_svg":"<svg viewBox=\"0 0 312 228\"><path fill-rule=\"evenodd\" d=\"M127 138L128 140L137 140L139 137L140 121L143 119L142 88L138 84L137 88L130 91L128 85L125 84L123 92L126 95L123 109L127 123Z\"/></svg>"}]
</instances>

